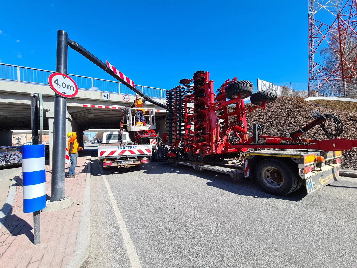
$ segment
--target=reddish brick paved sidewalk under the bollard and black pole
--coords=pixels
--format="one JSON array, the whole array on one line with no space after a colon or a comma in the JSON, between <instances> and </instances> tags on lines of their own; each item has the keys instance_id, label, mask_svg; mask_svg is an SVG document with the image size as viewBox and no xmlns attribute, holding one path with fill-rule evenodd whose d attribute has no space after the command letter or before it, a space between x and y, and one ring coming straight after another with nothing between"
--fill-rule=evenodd
<instances>
[{"instance_id":1,"label":"reddish brick paved sidewalk under the bollard and black pole","mask_svg":"<svg viewBox=\"0 0 357 268\"><path fill-rule=\"evenodd\" d=\"M76 178L66 178L65 195L70 196L70 208L41 212L41 243L33 244L33 213L24 213L22 177L18 177L12 211L0 229L0 268L65 267L73 258L81 215L87 163L90 157L79 157ZM68 172L69 164L66 165ZM51 192L51 167L46 166L47 199Z\"/></svg>"}]
</instances>

